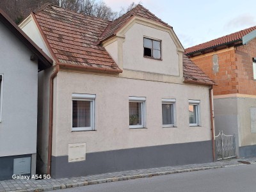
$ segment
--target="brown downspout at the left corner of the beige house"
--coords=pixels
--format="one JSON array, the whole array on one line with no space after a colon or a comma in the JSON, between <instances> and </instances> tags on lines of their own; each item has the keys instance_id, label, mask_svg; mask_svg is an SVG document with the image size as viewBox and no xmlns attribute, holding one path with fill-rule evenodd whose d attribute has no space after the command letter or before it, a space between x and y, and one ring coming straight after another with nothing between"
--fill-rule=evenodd
<instances>
[{"instance_id":1,"label":"brown downspout at the left corner of the beige house","mask_svg":"<svg viewBox=\"0 0 256 192\"><path fill-rule=\"evenodd\" d=\"M48 138L48 161L47 174L51 175L51 161L52 161L52 116L53 116L53 79L57 76L60 70L60 65L56 65L56 70L50 77L50 98L49 98L49 138Z\"/></svg>"}]
</instances>

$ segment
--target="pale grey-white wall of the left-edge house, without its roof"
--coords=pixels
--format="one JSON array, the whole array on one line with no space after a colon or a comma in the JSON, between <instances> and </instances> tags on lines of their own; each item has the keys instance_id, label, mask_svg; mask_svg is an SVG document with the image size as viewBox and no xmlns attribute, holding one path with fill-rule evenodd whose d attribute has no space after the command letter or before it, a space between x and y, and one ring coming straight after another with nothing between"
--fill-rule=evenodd
<instances>
[{"instance_id":1,"label":"pale grey-white wall of the left-edge house, without its roof","mask_svg":"<svg viewBox=\"0 0 256 192\"><path fill-rule=\"evenodd\" d=\"M0 122L0 179L12 179L13 159L32 156L35 173L37 70L31 52L0 22L0 52L3 74L3 106ZM10 169L9 169L10 168ZM6 171L8 169L8 171Z\"/></svg>"}]
</instances>

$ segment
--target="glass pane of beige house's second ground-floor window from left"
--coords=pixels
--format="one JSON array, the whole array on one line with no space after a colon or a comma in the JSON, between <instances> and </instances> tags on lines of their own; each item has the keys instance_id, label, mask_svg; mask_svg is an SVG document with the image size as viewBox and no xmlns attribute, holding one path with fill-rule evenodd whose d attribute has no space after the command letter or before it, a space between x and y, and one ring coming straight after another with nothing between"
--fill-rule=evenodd
<instances>
[{"instance_id":1,"label":"glass pane of beige house's second ground-floor window from left","mask_svg":"<svg viewBox=\"0 0 256 192\"><path fill-rule=\"evenodd\" d=\"M129 102L129 125L141 125L141 102Z\"/></svg>"}]
</instances>

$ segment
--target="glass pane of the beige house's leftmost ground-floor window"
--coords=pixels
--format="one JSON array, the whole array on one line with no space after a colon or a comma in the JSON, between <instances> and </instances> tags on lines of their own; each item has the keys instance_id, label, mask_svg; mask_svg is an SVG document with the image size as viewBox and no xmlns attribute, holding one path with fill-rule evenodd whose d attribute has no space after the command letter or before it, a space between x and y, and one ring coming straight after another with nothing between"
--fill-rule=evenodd
<instances>
[{"instance_id":1,"label":"glass pane of the beige house's leftmost ground-floor window","mask_svg":"<svg viewBox=\"0 0 256 192\"><path fill-rule=\"evenodd\" d=\"M72 127L91 127L91 101L73 100Z\"/></svg>"}]
</instances>

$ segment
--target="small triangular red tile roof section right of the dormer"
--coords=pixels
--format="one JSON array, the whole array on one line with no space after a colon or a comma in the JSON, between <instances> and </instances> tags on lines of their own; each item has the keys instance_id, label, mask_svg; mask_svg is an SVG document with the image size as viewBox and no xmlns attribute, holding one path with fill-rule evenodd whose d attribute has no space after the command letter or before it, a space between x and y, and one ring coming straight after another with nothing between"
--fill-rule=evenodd
<instances>
[{"instance_id":1,"label":"small triangular red tile roof section right of the dormer","mask_svg":"<svg viewBox=\"0 0 256 192\"><path fill-rule=\"evenodd\" d=\"M208 77L188 56L183 54L183 77L184 82L197 84L216 84Z\"/></svg>"}]
</instances>

